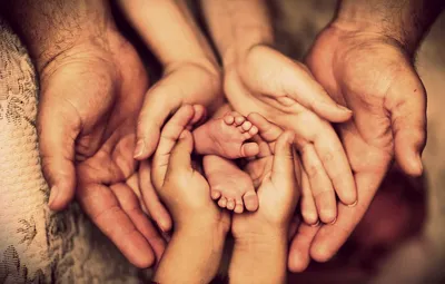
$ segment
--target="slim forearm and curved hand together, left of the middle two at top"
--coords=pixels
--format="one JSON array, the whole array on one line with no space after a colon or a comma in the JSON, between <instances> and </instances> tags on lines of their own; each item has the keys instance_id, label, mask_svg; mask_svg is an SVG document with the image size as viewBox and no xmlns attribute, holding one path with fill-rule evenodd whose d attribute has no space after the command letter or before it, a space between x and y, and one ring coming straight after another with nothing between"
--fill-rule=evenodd
<instances>
[{"instance_id":1,"label":"slim forearm and curved hand together, left of the middle two at top","mask_svg":"<svg viewBox=\"0 0 445 284\"><path fill-rule=\"evenodd\" d=\"M180 106L200 104L206 107L205 111L211 112L222 104L220 70L185 1L117 2L164 68L162 78L145 95L134 156L142 163L141 174L146 184L141 194L147 210L159 228L168 232L171 217L150 184L150 174L144 173L151 169L146 159L158 146L162 125Z\"/></svg>"}]
</instances>

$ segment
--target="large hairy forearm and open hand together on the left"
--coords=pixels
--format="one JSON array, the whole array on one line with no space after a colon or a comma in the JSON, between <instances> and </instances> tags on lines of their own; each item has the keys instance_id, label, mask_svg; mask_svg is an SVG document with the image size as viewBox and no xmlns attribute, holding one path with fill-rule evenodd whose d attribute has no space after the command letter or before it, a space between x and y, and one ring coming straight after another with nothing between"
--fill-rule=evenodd
<instances>
[{"instance_id":1,"label":"large hairy forearm and open hand together on the left","mask_svg":"<svg viewBox=\"0 0 445 284\"><path fill-rule=\"evenodd\" d=\"M7 2L39 74L50 208L65 208L76 195L132 264L152 265L165 243L137 197L134 129L148 88L138 55L117 32L108 1Z\"/></svg>"}]
</instances>

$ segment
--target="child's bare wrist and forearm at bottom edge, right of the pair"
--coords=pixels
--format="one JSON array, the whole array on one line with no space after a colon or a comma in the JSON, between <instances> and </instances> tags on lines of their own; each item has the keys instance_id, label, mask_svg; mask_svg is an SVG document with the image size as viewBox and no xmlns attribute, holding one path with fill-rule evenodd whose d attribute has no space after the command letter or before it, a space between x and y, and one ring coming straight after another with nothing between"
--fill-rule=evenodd
<instances>
[{"instance_id":1,"label":"child's bare wrist and forearm at bottom edge, right of the pair","mask_svg":"<svg viewBox=\"0 0 445 284\"><path fill-rule=\"evenodd\" d=\"M286 235L278 232L265 237L235 239L230 283L286 283Z\"/></svg>"}]
</instances>

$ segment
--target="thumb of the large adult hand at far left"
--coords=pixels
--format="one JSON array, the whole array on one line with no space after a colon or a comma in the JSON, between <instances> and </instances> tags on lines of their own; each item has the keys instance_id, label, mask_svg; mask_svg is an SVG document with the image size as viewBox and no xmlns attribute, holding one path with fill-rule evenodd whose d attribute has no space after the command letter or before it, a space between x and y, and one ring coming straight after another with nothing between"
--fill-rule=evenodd
<instances>
[{"instance_id":1,"label":"thumb of the large adult hand at far left","mask_svg":"<svg viewBox=\"0 0 445 284\"><path fill-rule=\"evenodd\" d=\"M41 166L51 189L49 207L53 210L63 209L75 196L75 141L80 131L80 120L76 117L75 110L44 100L39 111Z\"/></svg>"}]
</instances>

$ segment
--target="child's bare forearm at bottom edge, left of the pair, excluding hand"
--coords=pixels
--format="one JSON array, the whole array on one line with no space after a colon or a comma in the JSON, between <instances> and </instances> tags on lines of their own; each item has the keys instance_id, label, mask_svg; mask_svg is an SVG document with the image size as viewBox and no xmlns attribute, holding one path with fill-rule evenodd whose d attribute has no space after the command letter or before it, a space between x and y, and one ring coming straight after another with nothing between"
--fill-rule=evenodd
<instances>
[{"instance_id":1,"label":"child's bare forearm at bottom edge, left of the pair, excluding hand","mask_svg":"<svg viewBox=\"0 0 445 284\"><path fill-rule=\"evenodd\" d=\"M181 228L162 255L155 281L159 283L210 283L222 256L226 232Z\"/></svg>"}]
</instances>

